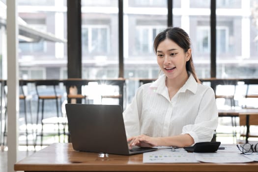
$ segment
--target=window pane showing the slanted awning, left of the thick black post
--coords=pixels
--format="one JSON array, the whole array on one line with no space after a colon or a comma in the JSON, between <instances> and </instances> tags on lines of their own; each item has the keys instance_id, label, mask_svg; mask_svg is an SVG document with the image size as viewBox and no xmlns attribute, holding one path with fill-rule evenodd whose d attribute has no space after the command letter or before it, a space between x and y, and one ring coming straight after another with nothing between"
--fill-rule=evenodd
<instances>
[{"instance_id":1,"label":"window pane showing the slanted awning, left of the thick black post","mask_svg":"<svg viewBox=\"0 0 258 172\"><path fill-rule=\"evenodd\" d=\"M66 0L18 0L18 16L20 78L67 77Z\"/></svg>"}]
</instances>

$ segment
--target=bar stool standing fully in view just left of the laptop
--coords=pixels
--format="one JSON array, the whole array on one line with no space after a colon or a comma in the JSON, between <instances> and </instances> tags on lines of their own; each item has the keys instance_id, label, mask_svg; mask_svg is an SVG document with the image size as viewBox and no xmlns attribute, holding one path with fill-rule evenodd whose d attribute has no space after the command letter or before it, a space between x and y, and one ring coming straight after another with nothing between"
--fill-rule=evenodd
<instances>
[{"instance_id":1,"label":"bar stool standing fully in view just left of the laptop","mask_svg":"<svg viewBox=\"0 0 258 172\"><path fill-rule=\"evenodd\" d=\"M57 86L59 86L59 81L58 80L36 80L35 81L36 94L37 94L37 98L38 98L36 124L38 125L38 123L39 123L39 110L41 108L41 117L40 117L41 132L40 133L38 132L38 127L37 127L34 147L37 144L37 136L41 137L41 140L40 140L40 145L41 146L43 145L43 136L53 136L53 135L55 136L57 134L58 135L58 142L60 142L60 135L61 135L60 134L60 124L62 126L63 126L63 124L62 124L62 122L59 118L59 117L61 117L61 116L59 116L59 110L61 110L62 95L57 94ZM46 92L46 91L49 91L49 92ZM47 100L50 100L50 101L54 100L56 102L56 110L57 110L57 116L56 117L57 118L51 118L47 122L44 122L44 120L46 120L46 119L44 119L44 108L45 108L44 103ZM40 106L40 102L41 102L41 106ZM43 125L44 124L50 124L50 123L58 125L57 133L56 132L44 133ZM63 129L63 134L65 134L64 129Z\"/></svg>"}]
</instances>

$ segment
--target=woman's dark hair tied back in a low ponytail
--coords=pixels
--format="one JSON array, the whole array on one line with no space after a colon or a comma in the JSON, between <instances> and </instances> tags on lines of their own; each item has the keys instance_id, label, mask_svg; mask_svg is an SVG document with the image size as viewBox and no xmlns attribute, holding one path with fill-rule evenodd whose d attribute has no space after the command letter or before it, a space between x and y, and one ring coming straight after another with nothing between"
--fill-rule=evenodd
<instances>
[{"instance_id":1,"label":"woman's dark hair tied back in a low ponytail","mask_svg":"<svg viewBox=\"0 0 258 172\"><path fill-rule=\"evenodd\" d=\"M188 51L189 48L191 48L191 40L189 38L189 35L183 29L173 27L163 30L156 36L153 43L155 54L157 53L157 48L160 42L164 41L166 38L175 42L179 47L184 50L185 53ZM201 83L195 72L192 54L190 59L186 62L186 70L192 73L196 82Z\"/></svg>"}]
</instances>

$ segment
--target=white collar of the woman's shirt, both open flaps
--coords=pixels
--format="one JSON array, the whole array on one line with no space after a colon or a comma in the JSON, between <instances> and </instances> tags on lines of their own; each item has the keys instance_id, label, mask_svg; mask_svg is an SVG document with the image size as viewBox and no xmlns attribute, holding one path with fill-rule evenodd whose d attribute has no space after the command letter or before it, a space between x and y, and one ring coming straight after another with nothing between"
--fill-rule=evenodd
<instances>
[{"instance_id":1,"label":"white collar of the woman's shirt, both open flaps","mask_svg":"<svg viewBox=\"0 0 258 172\"><path fill-rule=\"evenodd\" d=\"M194 76L192 73L190 73L190 76L186 83L179 89L178 92L185 92L187 89L191 91L192 93L196 93L197 91L197 86L198 83L196 82ZM155 82L153 82L150 86L151 89L155 89L157 93L159 94L164 94L166 91L167 92L167 86L166 86L166 75L163 74L161 75Z\"/></svg>"}]
</instances>

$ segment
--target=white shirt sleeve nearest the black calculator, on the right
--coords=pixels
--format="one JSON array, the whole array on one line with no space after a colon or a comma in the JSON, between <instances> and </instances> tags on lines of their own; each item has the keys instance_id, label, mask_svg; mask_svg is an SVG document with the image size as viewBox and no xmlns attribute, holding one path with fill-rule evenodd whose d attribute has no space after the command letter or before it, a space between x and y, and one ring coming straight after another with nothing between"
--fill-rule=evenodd
<instances>
[{"instance_id":1,"label":"white shirt sleeve nearest the black calculator, on the right","mask_svg":"<svg viewBox=\"0 0 258 172\"><path fill-rule=\"evenodd\" d=\"M194 124L186 125L182 134L189 134L194 143L210 142L218 126L218 110L214 91L208 88L201 99L198 115Z\"/></svg>"}]
</instances>

